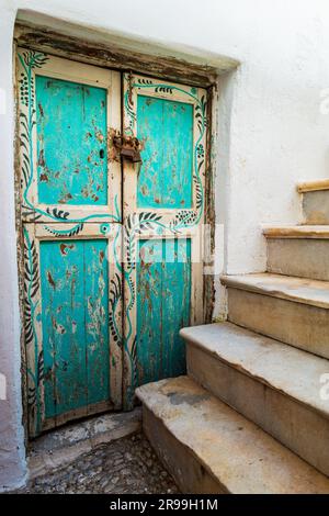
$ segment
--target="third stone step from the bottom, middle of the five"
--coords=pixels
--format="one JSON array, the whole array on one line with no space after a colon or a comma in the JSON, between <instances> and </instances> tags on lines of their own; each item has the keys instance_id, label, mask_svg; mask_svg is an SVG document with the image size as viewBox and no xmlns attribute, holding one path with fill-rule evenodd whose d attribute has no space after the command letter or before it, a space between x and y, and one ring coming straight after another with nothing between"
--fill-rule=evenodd
<instances>
[{"instance_id":1,"label":"third stone step from the bottom, middle of the five","mask_svg":"<svg viewBox=\"0 0 329 516\"><path fill-rule=\"evenodd\" d=\"M222 283L231 323L329 358L329 282L265 272Z\"/></svg>"}]
</instances>

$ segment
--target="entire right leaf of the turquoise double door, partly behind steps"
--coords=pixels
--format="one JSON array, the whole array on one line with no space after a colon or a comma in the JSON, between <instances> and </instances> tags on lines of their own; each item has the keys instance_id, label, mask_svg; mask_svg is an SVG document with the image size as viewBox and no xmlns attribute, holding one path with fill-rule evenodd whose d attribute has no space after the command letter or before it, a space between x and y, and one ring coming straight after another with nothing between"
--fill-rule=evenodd
<instances>
[{"instance_id":1,"label":"entire right leaf of the turquoise double door, partly behind steps","mask_svg":"<svg viewBox=\"0 0 329 516\"><path fill-rule=\"evenodd\" d=\"M203 322L206 92L124 76L124 132L143 164L124 164L124 401L185 372L183 326Z\"/></svg>"}]
</instances>

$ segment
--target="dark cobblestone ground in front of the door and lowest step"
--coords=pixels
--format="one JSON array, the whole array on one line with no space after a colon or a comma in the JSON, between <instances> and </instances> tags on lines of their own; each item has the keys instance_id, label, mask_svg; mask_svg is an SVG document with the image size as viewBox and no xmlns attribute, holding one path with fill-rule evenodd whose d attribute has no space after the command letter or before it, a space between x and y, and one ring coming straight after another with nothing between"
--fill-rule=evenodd
<instances>
[{"instance_id":1,"label":"dark cobblestone ground in front of the door and lowest step","mask_svg":"<svg viewBox=\"0 0 329 516\"><path fill-rule=\"evenodd\" d=\"M82 455L55 473L35 479L20 493L179 493L143 434Z\"/></svg>"}]
</instances>

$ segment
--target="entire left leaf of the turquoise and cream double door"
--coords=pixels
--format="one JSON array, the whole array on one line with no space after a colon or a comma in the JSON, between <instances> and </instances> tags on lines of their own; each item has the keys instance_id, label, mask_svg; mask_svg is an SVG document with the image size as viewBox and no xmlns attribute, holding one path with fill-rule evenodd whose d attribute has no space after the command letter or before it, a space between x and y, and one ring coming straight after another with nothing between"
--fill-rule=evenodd
<instances>
[{"instance_id":1,"label":"entire left leaf of the turquoise and cream double door","mask_svg":"<svg viewBox=\"0 0 329 516\"><path fill-rule=\"evenodd\" d=\"M20 49L30 436L122 406L121 78Z\"/></svg>"}]
</instances>

